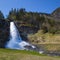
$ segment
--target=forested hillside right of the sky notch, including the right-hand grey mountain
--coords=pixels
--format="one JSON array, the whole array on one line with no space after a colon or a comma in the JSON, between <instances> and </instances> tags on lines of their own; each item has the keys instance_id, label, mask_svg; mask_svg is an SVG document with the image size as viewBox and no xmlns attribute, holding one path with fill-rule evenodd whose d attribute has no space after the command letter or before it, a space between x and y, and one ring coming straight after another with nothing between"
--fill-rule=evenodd
<instances>
[{"instance_id":1,"label":"forested hillside right of the sky notch, including the right-hand grey mountain","mask_svg":"<svg viewBox=\"0 0 60 60\"><path fill-rule=\"evenodd\" d=\"M14 20L18 26L31 27L43 30L43 33L60 33L60 8L57 8L51 14L40 12L27 12L25 9L12 9L7 19ZM36 31L35 31L36 32Z\"/></svg>"}]
</instances>

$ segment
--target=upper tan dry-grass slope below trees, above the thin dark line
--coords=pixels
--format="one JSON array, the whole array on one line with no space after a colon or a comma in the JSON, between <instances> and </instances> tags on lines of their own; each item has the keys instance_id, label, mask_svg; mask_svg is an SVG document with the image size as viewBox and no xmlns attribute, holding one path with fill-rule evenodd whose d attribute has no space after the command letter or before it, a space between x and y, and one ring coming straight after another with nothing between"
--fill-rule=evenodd
<instances>
[{"instance_id":1,"label":"upper tan dry-grass slope below trees, above the thin dark line","mask_svg":"<svg viewBox=\"0 0 60 60\"><path fill-rule=\"evenodd\" d=\"M29 41L37 44L60 44L60 34L42 33L28 35Z\"/></svg>"}]
</instances>

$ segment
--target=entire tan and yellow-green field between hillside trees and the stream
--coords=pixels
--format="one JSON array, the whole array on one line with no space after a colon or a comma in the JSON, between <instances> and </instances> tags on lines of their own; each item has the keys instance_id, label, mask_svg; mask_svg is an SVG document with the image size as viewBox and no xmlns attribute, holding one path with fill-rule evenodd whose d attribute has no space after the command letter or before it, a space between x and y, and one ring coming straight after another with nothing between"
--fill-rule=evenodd
<instances>
[{"instance_id":1,"label":"entire tan and yellow-green field between hillside trees and the stream","mask_svg":"<svg viewBox=\"0 0 60 60\"><path fill-rule=\"evenodd\" d=\"M60 34L43 33L38 31L28 36L32 44L43 47L48 51L60 51Z\"/></svg>"}]
</instances>

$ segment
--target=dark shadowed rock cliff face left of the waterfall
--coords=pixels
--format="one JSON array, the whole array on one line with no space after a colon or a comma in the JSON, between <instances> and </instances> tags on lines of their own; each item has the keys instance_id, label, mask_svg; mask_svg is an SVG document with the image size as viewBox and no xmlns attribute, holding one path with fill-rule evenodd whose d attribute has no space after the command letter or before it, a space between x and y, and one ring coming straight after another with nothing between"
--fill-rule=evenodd
<instances>
[{"instance_id":1,"label":"dark shadowed rock cliff face left of the waterfall","mask_svg":"<svg viewBox=\"0 0 60 60\"><path fill-rule=\"evenodd\" d=\"M9 40L9 22L0 19L0 48L4 48L6 41Z\"/></svg>"}]
</instances>

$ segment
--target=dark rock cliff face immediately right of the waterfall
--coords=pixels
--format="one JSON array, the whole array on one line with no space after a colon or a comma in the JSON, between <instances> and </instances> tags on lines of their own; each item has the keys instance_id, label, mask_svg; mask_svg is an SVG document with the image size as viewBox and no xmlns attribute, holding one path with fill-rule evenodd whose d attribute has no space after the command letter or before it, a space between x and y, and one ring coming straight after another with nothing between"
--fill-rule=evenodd
<instances>
[{"instance_id":1,"label":"dark rock cliff face immediately right of the waterfall","mask_svg":"<svg viewBox=\"0 0 60 60\"><path fill-rule=\"evenodd\" d=\"M24 26L23 23L15 22L22 40L28 41L28 35L34 34L38 31L36 27Z\"/></svg>"}]
</instances>

